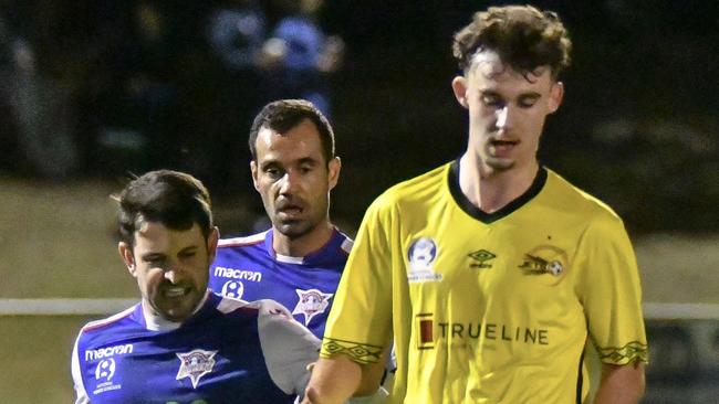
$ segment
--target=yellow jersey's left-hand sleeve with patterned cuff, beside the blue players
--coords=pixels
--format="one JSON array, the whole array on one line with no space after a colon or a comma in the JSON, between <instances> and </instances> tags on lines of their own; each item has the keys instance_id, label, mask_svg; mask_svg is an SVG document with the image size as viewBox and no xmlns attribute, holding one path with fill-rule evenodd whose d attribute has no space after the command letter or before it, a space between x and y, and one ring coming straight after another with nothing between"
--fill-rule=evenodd
<instances>
[{"instance_id":1,"label":"yellow jersey's left-hand sleeve with patterned cuff, beside the blue players","mask_svg":"<svg viewBox=\"0 0 719 404\"><path fill-rule=\"evenodd\" d=\"M388 344L396 223L393 206L381 196L362 221L327 319L323 358L346 354L361 364L375 363Z\"/></svg>"}]
</instances>

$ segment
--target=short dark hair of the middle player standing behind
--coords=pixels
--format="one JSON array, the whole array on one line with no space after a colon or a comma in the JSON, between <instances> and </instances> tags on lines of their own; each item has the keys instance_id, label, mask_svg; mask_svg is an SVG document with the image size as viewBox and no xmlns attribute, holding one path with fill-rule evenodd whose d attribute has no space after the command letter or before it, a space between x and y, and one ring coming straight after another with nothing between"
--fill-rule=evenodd
<instances>
[{"instance_id":1,"label":"short dark hair of the middle player standing behind","mask_svg":"<svg viewBox=\"0 0 719 404\"><path fill-rule=\"evenodd\" d=\"M265 105L254 117L250 129L249 146L252 160L257 160L257 137L262 128L269 128L280 135L310 119L320 132L320 143L325 162L334 158L334 131L330 120L314 104L306 99L280 99Z\"/></svg>"}]
</instances>

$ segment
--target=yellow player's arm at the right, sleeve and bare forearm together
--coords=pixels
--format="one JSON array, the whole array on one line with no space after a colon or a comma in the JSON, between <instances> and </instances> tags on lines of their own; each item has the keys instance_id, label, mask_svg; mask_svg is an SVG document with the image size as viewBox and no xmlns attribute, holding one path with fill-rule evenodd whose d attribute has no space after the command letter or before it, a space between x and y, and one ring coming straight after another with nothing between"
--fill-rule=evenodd
<instances>
[{"instance_id":1,"label":"yellow player's arm at the right, sleeve and bare forearm together","mask_svg":"<svg viewBox=\"0 0 719 404\"><path fill-rule=\"evenodd\" d=\"M593 223L583 241L577 283L588 331L602 361L595 403L636 403L648 360L642 288L629 238L618 220Z\"/></svg>"}]
</instances>

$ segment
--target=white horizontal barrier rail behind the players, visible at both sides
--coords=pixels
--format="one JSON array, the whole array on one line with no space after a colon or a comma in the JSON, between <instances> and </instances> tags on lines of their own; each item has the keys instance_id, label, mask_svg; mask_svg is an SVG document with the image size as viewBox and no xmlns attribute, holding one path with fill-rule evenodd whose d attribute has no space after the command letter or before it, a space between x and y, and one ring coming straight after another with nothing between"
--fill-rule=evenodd
<instances>
[{"instance_id":1,"label":"white horizontal barrier rail behind the players, visible at both sides","mask_svg":"<svg viewBox=\"0 0 719 404\"><path fill-rule=\"evenodd\" d=\"M0 316L94 316L122 311L138 299L0 299ZM719 304L644 304L647 320L719 320Z\"/></svg>"}]
</instances>

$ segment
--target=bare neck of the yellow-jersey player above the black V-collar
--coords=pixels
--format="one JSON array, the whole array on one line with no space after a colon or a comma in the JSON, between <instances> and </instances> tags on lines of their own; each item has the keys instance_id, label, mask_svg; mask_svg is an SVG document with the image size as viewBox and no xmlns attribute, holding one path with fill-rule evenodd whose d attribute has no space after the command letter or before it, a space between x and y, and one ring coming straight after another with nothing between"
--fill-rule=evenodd
<instances>
[{"instance_id":1,"label":"bare neck of the yellow-jersey player above the black V-collar","mask_svg":"<svg viewBox=\"0 0 719 404\"><path fill-rule=\"evenodd\" d=\"M465 153L459 160L459 187L467 199L484 213L494 213L530 189L539 163L494 170Z\"/></svg>"}]
</instances>

